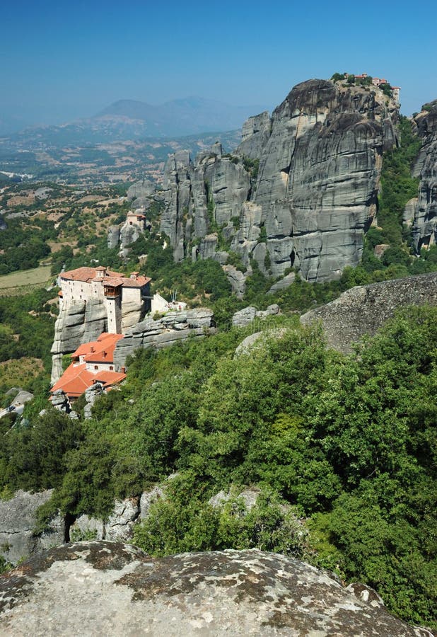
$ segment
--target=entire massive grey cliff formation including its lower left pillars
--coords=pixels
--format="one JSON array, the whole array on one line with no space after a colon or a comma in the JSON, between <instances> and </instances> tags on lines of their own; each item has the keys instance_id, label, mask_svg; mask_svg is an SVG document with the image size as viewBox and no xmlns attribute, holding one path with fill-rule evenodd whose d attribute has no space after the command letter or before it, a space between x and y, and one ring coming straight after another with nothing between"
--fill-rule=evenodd
<instances>
[{"instance_id":1,"label":"entire massive grey cliff formation including its lower left pillars","mask_svg":"<svg viewBox=\"0 0 437 637\"><path fill-rule=\"evenodd\" d=\"M221 251L215 258L224 263L232 251L246 268L253 258L264 273L294 267L310 281L357 265L397 116L397 103L375 86L310 80L271 119L246 122L235 156L223 156L219 144L194 163L187 152L170 156L161 230L175 259L194 246L197 258Z\"/></svg>"}]
</instances>

